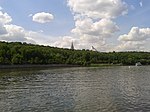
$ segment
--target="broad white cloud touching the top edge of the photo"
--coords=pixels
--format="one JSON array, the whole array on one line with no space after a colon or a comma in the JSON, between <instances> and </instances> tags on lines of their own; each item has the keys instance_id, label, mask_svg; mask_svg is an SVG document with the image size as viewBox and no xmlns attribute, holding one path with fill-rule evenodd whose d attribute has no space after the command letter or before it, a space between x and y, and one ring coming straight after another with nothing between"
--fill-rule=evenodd
<instances>
[{"instance_id":1,"label":"broad white cloud touching the top edge of the photo","mask_svg":"<svg viewBox=\"0 0 150 112\"><path fill-rule=\"evenodd\" d=\"M68 0L73 13L90 18L115 18L128 12L122 0Z\"/></svg>"}]
</instances>

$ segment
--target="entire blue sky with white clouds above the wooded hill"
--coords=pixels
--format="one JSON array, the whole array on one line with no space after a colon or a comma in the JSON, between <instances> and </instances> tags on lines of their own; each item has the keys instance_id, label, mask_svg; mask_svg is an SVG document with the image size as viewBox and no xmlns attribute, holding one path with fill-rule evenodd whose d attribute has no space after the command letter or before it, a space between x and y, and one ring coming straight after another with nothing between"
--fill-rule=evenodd
<instances>
[{"instance_id":1,"label":"entire blue sky with white clouds above the wooded hill","mask_svg":"<svg viewBox=\"0 0 150 112\"><path fill-rule=\"evenodd\" d=\"M0 41L150 51L150 0L0 0Z\"/></svg>"}]
</instances>

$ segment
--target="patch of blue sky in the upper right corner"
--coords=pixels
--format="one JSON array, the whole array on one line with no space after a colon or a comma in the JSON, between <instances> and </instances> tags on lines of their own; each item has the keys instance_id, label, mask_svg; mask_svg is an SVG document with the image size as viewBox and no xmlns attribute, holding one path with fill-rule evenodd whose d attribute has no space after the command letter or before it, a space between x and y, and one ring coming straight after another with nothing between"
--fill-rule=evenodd
<instances>
[{"instance_id":1,"label":"patch of blue sky in the upper right corner","mask_svg":"<svg viewBox=\"0 0 150 112\"><path fill-rule=\"evenodd\" d=\"M143 6L140 6L142 2ZM150 1L148 0L126 0L126 3L130 6L134 6L135 9L129 9L127 15L117 19L117 23L123 28L122 32L128 32L133 26L149 27L150 22Z\"/></svg>"}]
</instances>

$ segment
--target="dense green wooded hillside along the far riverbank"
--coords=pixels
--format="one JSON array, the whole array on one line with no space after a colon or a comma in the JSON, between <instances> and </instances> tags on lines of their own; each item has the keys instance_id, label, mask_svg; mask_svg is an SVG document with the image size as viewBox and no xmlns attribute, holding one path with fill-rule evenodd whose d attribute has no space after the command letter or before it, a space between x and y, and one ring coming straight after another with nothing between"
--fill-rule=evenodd
<instances>
[{"instance_id":1,"label":"dense green wooded hillside along the far riverbank","mask_svg":"<svg viewBox=\"0 0 150 112\"><path fill-rule=\"evenodd\" d=\"M0 68L150 65L150 52L72 50L21 42L0 42Z\"/></svg>"}]
</instances>

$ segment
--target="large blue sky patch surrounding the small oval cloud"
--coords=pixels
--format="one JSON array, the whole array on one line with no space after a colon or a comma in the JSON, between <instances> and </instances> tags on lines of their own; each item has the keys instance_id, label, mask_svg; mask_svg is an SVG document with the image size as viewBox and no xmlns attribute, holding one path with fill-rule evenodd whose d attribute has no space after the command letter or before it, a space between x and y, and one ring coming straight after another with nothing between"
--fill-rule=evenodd
<instances>
[{"instance_id":1,"label":"large blue sky patch surrounding the small oval cloud","mask_svg":"<svg viewBox=\"0 0 150 112\"><path fill-rule=\"evenodd\" d=\"M0 5L13 18L13 24L28 30L43 30L46 34L59 36L68 34L73 28L73 16L66 0L1 0ZM38 12L52 13L55 19L48 24L37 24L29 15Z\"/></svg>"}]
</instances>

